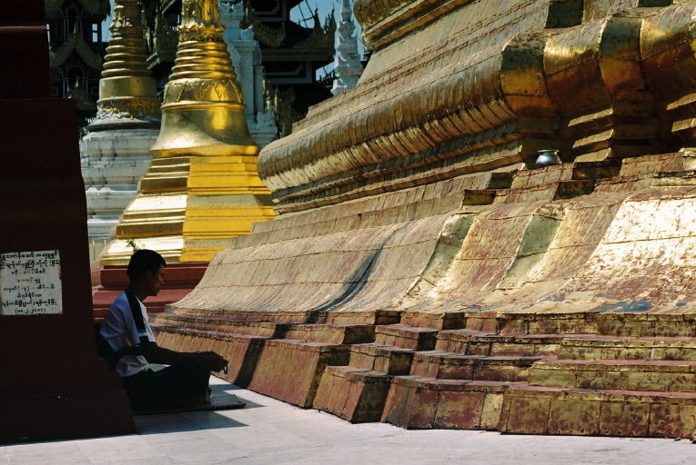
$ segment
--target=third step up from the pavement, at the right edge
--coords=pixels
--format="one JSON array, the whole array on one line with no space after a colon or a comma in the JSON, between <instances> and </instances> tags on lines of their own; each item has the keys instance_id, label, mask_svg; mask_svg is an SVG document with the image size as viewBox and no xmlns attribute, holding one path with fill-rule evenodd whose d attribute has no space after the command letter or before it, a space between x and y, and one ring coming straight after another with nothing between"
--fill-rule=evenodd
<instances>
[{"instance_id":1,"label":"third step up from the pavement, at the right edge","mask_svg":"<svg viewBox=\"0 0 696 465\"><path fill-rule=\"evenodd\" d=\"M558 358L561 360L696 361L696 338L576 334L563 338Z\"/></svg>"}]
</instances>

